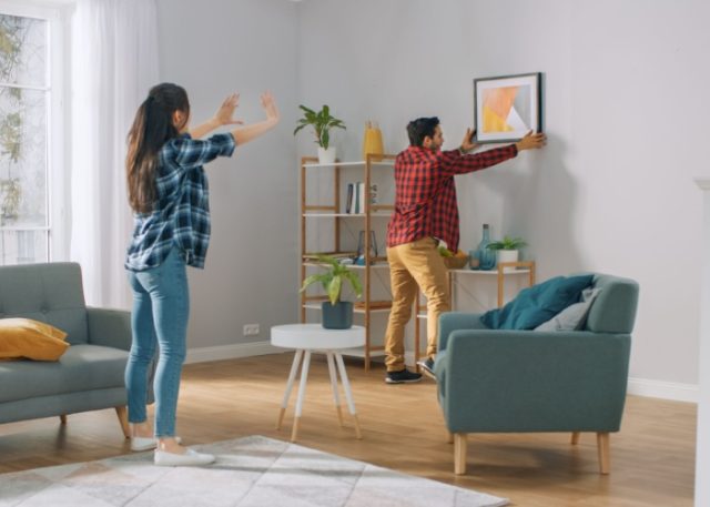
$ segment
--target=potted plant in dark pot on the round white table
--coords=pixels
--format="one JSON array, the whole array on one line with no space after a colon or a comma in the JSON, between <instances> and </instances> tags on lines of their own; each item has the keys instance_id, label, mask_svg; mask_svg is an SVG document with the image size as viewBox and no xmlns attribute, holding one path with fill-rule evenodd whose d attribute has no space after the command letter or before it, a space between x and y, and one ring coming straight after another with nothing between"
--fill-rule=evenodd
<instances>
[{"instance_id":1,"label":"potted plant in dark pot on the round white table","mask_svg":"<svg viewBox=\"0 0 710 507\"><path fill-rule=\"evenodd\" d=\"M341 301L341 293L345 283L349 283L357 297L363 295L363 286L357 275L337 258L329 255L318 255L318 262L325 264L327 270L313 274L303 281L300 292L304 292L308 285L320 283L328 295L324 301L323 327L327 329L347 329L353 325L353 303Z\"/></svg>"}]
</instances>

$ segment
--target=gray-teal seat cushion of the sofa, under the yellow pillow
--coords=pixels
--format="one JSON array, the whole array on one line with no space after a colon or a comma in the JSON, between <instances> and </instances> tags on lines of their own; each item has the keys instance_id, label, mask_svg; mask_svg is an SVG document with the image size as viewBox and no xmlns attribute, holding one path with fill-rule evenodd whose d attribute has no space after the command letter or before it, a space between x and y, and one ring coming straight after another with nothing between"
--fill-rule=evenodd
<instances>
[{"instance_id":1,"label":"gray-teal seat cushion of the sofa, under the yellow pillow","mask_svg":"<svg viewBox=\"0 0 710 507\"><path fill-rule=\"evenodd\" d=\"M122 387L129 353L72 345L57 363L0 362L0 403L108 387Z\"/></svg>"}]
</instances>

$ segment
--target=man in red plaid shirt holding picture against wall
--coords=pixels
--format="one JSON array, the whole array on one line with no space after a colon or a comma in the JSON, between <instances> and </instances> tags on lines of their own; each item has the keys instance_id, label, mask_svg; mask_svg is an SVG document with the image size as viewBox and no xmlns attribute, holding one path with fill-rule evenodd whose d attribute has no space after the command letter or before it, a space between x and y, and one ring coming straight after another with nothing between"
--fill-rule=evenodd
<instances>
[{"instance_id":1,"label":"man in red plaid shirt holding picture against wall","mask_svg":"<svg viewBox=\"0 0 710 507\"><path fill-rule=\"evenodd\" d=\"M438 118L419 118L407 125L410 146L395 161L395 212L387 227L387 260L392 312L385 334L387 384L418 382L422 374L404 364L404 327L412 317L417 286L427 300L427 351L418 364L430 374L438 342L439 315L450 310L448 275L438 242L458 250L458 206L454 176L513 159L519 151L542 148L546 136L528 132L520 141L481 153L470 129L457 150L442 151Z\"/></svg>"}]
</instances>

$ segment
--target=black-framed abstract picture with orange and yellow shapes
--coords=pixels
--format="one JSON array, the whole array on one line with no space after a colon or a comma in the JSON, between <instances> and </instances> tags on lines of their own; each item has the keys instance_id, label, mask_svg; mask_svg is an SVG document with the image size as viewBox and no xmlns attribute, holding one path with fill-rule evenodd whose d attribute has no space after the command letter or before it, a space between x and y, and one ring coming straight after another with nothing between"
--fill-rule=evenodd
<instances>
[{"instance_id":1,"label":"black-framed abstract picture with orange and yellow shapes","mask_svg":"<svg viewBox=\"0 0 710 507\"><path fill-rule=\"evenodd\" d=\"M474 80L476 142L519 141L542 131L542 74L504 75Z\"/></svg>"}]
</instances>

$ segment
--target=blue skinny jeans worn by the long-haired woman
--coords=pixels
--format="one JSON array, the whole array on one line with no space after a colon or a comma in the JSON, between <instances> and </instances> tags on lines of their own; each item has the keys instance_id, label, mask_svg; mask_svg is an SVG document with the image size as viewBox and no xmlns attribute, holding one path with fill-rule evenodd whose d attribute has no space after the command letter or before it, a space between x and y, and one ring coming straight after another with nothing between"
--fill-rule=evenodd
<instances>
[{"instance_id":1,"label":"blue skinny jeans worn by the long-haired woman","mask_svg":"<svg viewBox=\"0 0 710 507\"><path fill-rule=\"evenodd\" d=\"M173 247L160 266L129 272L129 282L133 288L133 343L125 367L129 422L143 423L148 417L148 372L158 344L160 357L153 381L155 436L172 437L190 314L185 261Z\"/></svg>"}]
</instances>

